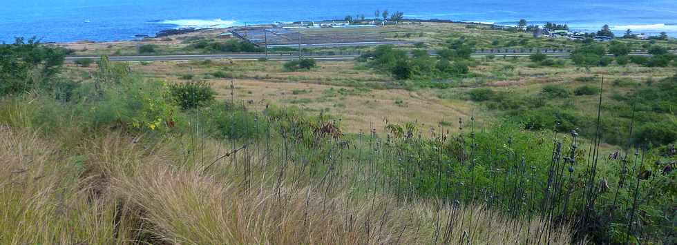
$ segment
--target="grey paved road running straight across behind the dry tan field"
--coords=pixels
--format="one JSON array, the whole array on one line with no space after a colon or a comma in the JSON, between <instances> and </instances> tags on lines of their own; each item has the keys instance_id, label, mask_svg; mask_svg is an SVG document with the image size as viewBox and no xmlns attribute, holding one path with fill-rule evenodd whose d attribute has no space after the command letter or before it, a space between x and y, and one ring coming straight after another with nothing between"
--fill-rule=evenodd
<instances>
[{"instance_id":1,"label":"grey paved road running straight across behind the dry tan field","mask_svg":"<svg viewBox=\"0 0 677 245\"><path fill-rule=\"evenodd\" d=\"M432 55L435 55L434 53ZM475 58L486 57L493 55L494 57L527 57L531 53L475 53L471 55ZM560 57L566 58L569 57L569 52L549 52L546 54L548 57ZM635 52L630 55L640 55L640 56L650 56L645 52ZM134 55L134 56L111 56L108 57L111 61L191 61L191 60L205 60L205 59L233 59L233 60L257 60L265 57L263 54L222 54L222 55ZM359 55L310 55L305 56L306 58L316 59L318 61L341 61L341 60L350 60L359 57ZM73 62L77 59L99 59L99 57L66 57L66 61ZM269 55L269 60L292 60L297 59L298 56L294 53L285 54L285 55Z\"/></svg>"}]
</instances>

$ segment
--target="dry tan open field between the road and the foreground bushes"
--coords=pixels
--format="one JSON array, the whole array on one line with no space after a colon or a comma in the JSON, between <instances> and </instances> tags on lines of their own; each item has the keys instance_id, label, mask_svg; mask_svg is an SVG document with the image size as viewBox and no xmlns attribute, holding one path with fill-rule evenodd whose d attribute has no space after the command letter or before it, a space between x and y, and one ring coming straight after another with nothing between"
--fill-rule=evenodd
<instances>
[{"instance_id":1,"label":"dry tan open field between the road and the foreground bushes","mask_svg":"<svg viewBox=\"0 0 677 245\"><path fill-rule=\"evenodd\" d=\"M517 62L516 62L517 61ZM305 110L327 112L343 119L349 132L382 128L385 119L395 122L419 121L435 126L441 121L468 119L473 112L477 118L496 116L499 111L468 99L472 88L493 88L517 95L537 96L542 87L560 84L576 88L598 81L576 81L580 77L604 77L607 83L617 79L631 79L644 83L674 75L674 68L645 68L640 66L591 68L589 70L530 67L526 58L480 61L472 68L475 77L452 81L454 88L411 90L387 75L364 68L355 61L327 61L314 70L287 72L282 61L185 61L132 63L135 72L144 77L183 82L182 76L207 81L222 100L231 99L229 86L235 85L235 99L254 101L254 108L262 110L266 104L299 106ZM80 70L82 68L74 68ZM93 69L90 69L93 71ZM223 72L227 78L213 77ZM232 79L231 79L232 77ZM613 97L631 90L627 86L607 86L605 101L613 104ZM262 102L263 101L263 102ZM573 106L593 115L595 96L575 97Z\"/></svg>"}]
</instances>

